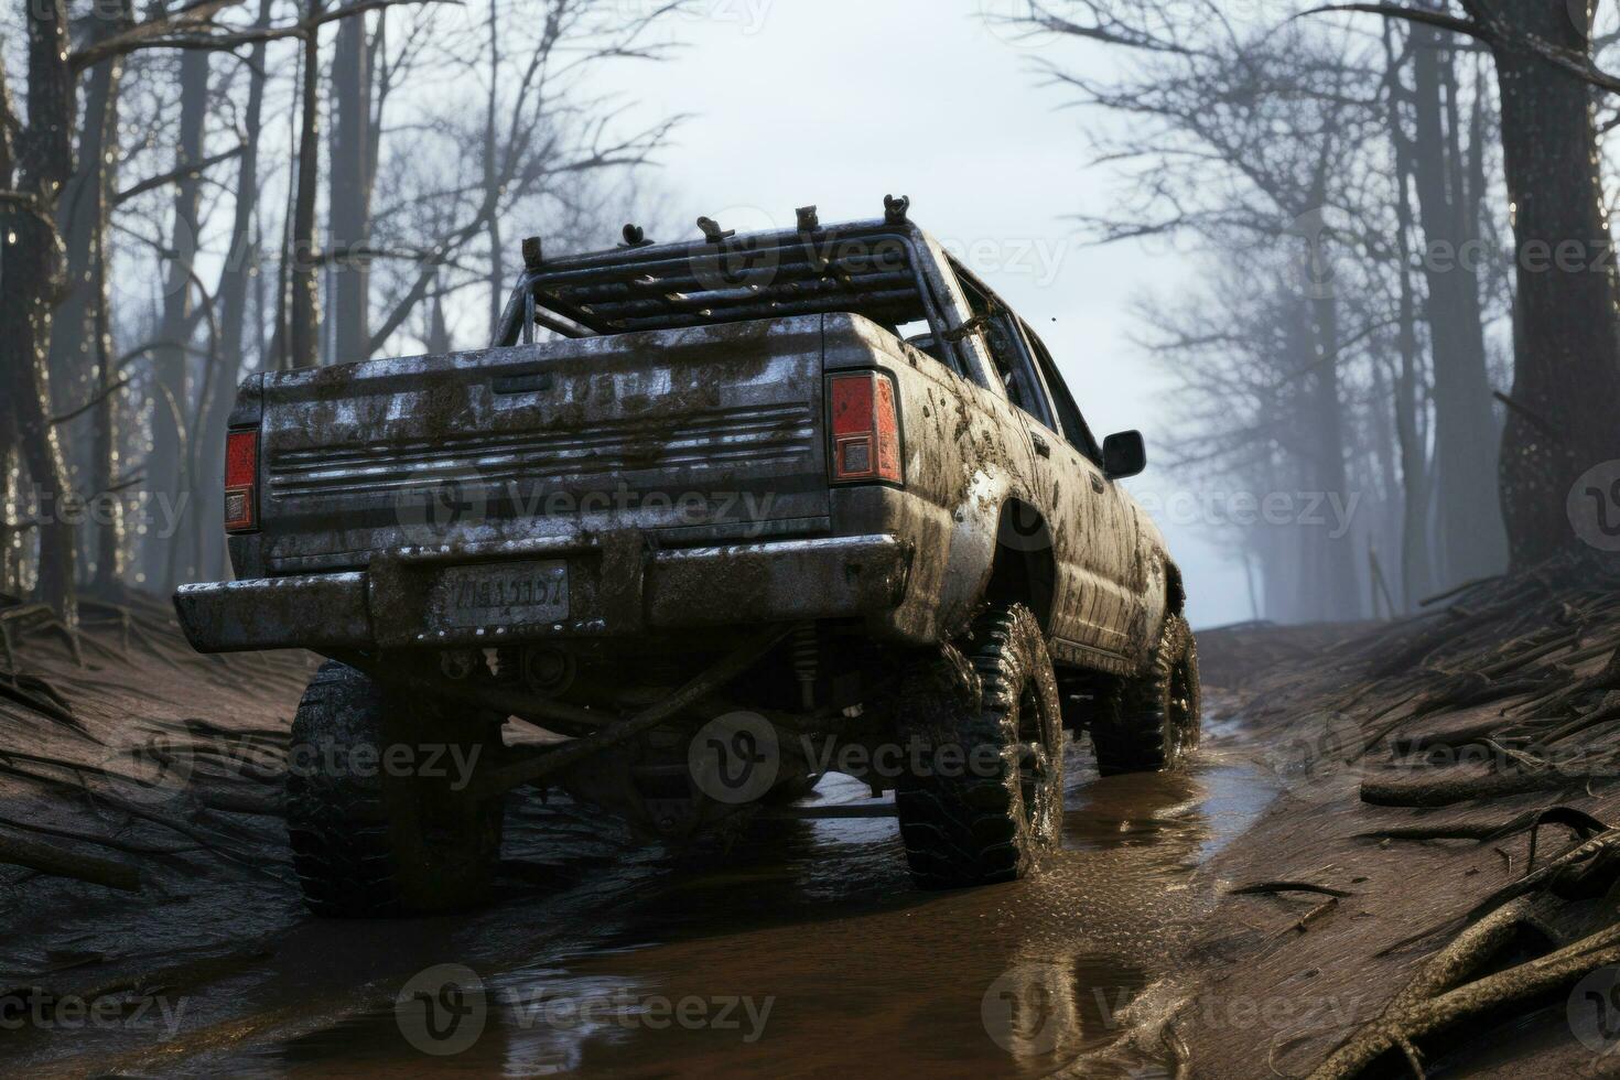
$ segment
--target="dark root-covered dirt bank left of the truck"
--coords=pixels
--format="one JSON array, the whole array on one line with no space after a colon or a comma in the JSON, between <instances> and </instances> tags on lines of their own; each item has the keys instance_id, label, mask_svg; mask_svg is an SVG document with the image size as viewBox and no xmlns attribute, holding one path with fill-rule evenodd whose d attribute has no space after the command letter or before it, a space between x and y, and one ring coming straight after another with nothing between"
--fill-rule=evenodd
<instances>
[{"instance_id":1,"label":"dark root-covered dirt bank left of the truck","mask_svg":"<svg viewBox=\"0 0 1620 1080\"><path fill-rule=\"evenodd\" d=\"M68 1051L89 1025L154 1041L181 1022L165 1004L230 978L298 916L277 800L313 664L198 656L151 597L87 601L68 635L0 596L0 1036L13 1064Z\"/></svg>"}]
</instances>

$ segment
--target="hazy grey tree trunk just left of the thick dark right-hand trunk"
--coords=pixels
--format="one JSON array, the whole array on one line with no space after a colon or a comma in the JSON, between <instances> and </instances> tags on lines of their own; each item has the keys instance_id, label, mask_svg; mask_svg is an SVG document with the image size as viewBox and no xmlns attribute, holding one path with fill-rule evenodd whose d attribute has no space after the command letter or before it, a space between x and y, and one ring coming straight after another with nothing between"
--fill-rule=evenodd
<instances>
[{"instance_id":1,"label":"hazy grey tree trunk just left of the thick dark right-hand trunk","mask_svg":"<svg viewBox=\"0 0 1620 1080\"><path fill-rule=\"evenodd\" d=\"M1434 29L1413 28L1411 149L1427 240L1442 586L1500 573L1507 562L1477 259L1466 257L1477 249L1479 219L1463 181L1453 53L1443 45Z\"/></svg>"}]
</instances>

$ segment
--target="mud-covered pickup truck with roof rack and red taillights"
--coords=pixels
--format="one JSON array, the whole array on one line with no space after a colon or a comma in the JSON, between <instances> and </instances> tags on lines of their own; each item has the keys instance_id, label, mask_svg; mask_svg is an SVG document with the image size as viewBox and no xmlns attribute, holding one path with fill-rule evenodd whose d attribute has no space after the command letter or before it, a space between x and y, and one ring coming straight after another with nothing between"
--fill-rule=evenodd
<instances>
[{"instance_id":1,"label":"mud-covered pickup truck with roof rack and red taillights","mask_svg":"<svg viewBox=\"0 0 1620 1080\"><path fill-rule=\"evenodd\" d=\"M207 653L329 661L285 814L309 907L484 894L502 801L565 790L651 837L893 803L923 887L1058 844L1066 733L1105 774L1199 733L1176 565L1027 322L883 219L525 269L488 350L248 379L233 581Z\"/></svg>"}]
</instances>

